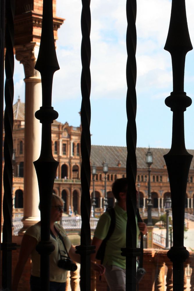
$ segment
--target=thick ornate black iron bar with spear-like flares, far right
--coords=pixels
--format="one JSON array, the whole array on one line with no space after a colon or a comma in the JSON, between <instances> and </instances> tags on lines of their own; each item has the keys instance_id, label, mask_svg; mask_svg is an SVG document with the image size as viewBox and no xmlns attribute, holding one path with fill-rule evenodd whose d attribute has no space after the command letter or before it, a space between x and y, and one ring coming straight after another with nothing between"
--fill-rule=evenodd
<instances>
[{"instance_id":1,"label":"thick ornate black iron bar with spear-like flares, far right","mask_svg":"<svg viewBox=\"0 0 194 291\"><path fill-rule=\"evenodd\" d=\"M189 252L184 247L184 204L188 172L193 156L185 148L184 111L191 105L191 98L184 92L185 57L192 49L188 32L185 0L172 0L170 25L164 49L172 58L173 92L165 104L173 112L172 145L164 155L168 170L172 199L173 246L168 258L173 262L173 290L184 290L184 261Z\"/></svg>"}]
</instances>

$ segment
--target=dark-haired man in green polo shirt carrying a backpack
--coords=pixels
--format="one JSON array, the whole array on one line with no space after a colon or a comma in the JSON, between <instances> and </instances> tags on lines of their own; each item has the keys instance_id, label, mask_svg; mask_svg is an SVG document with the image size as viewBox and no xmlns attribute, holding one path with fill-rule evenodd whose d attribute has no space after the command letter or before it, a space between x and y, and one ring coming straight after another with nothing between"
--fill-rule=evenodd
<instances>
[{"instance_id":1,"label":"dark-haired man in green polo shirt carrying a backpack","mask_svg":"<svg viewBox=\"0 0 194 291\"><path fill-rule=\"evenodd\" d=\"M112 185L112 193L117 200L115 204L115 229L110 239L106 242L103 265L105 266L105 277L111 291L125 291L125 262L126 259L121 255L121 248L126 246L126 194L127 179L121 178L115 180ZM111 223L111 217L106 211L100 217L92 239L92 245L96 246L96 253L108 233ZM144 222L137 222L137 242L140 231L147 233L147 227ZM95 254L91 255L91 260L95 260Z\"/></svg>"}]
</instances>

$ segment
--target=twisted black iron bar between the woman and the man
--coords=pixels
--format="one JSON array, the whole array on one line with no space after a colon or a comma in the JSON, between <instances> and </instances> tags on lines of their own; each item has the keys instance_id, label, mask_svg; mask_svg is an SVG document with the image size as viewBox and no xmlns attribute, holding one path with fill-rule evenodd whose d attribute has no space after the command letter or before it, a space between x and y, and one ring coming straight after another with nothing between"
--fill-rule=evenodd
<instances>
[{"instance_id":1,"label":"twisted black iron bar between the woman and the man","mask_svg":"<svg viewBox=\"0 0 194 291\"><path fill-rule=\"evenodd\" d=\"M81 11L81 244L76 246L76 253L81 255L81 270L80 270L80 289L81 291L90 290L90 254L94 253L95 246L91 246L91 231L90 231L90 29L91 29L91 15L90 15L90 0L82 0Z\"/></svg>"}]
</instances>

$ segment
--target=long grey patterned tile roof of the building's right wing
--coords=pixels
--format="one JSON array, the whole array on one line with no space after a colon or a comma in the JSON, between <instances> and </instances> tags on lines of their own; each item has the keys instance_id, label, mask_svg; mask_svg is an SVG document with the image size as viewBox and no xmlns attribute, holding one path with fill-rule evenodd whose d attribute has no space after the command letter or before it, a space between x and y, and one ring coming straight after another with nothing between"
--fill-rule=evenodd
<instances>
[{"instance_id":1,"label":"long grey patterned tile roof of the building's right wing","mask_svg":"<svg viewBox=\"0 0 194 291\"><path fill-rule=\"evenodd\" d=\"M136 148L137 168L147 168L145 162L145 155L148 148ZM152 168L161 169L164 168L165 161L163 155L169 152L166 148L150 148L153 155ZM191 155L194 155L194 150L188 150ZM120 146L105 146L105 145L92 145L90 162L91 165L95 163L97 167L102 167L103 161L106 161L108 167L126 167L127 148ZM194 159L191 162L191 168L194 168Z\"/></svg>"}]
</instances>

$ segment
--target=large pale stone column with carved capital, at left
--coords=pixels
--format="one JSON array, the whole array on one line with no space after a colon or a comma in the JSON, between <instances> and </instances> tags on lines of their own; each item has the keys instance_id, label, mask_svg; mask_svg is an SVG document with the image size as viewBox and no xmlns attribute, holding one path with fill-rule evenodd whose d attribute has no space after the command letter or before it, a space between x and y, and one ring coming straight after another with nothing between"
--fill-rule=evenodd
<instances>
[{"instance_id":1,"label":"large pale stone column with carved capital, at left","mask_svg":"<svg viewBox=\"0 0 194 291\"><path fill-rule=\"evenodd\" d=\"M41 78L34 65L39 45L30 42L15 47L16 59L24 65L25 73L25 131L24 131L24 226L20 234L40 220L38 180L33 162L40 156L41 124L35 112L42 106Z\"/></svg>"}]
</instances>

